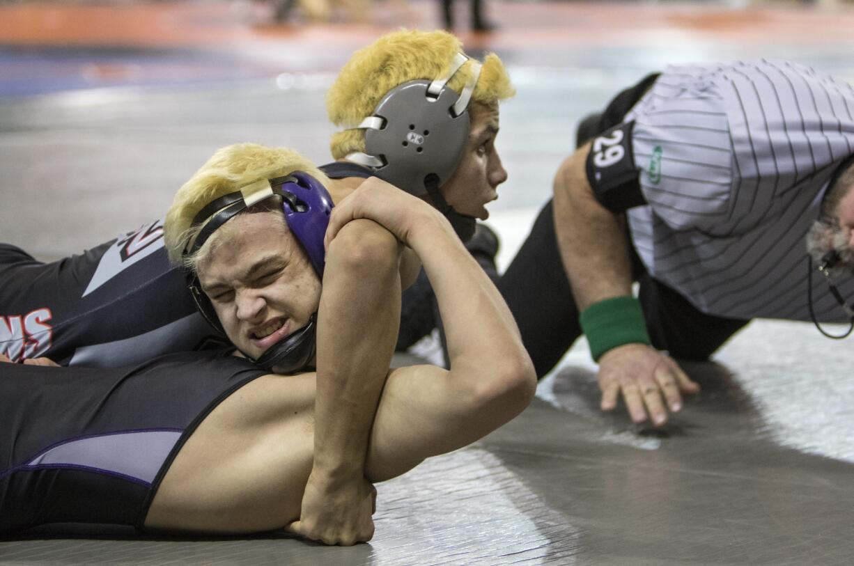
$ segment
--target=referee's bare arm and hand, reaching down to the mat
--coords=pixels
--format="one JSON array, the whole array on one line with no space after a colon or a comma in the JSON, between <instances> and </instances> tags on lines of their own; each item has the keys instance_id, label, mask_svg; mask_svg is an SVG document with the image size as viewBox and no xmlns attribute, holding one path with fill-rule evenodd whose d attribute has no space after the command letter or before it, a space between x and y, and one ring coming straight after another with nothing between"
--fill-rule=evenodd
<instances>
[{"instance_id":1,"label":"referee's bare arm and hand, reaching down to the mat","mask_svg":"<svg viewBox=\"0 0 854 566\"><path fill-rule=\"evenodd\" d=\"M561 164L554 179L554 224L560 254L579 312L588 318L593 318L590 316L593 312L603 311L610 311L604 312L605 318L631 318L630 313L611 310L611 307L631 307L633 301L625 215L611 212L594 195L586 172L590 148L591 143L586 143L576 149ZM588 310L591 306L594 309ZM635 318L639 318L637 324L645 335L642 317ZM602 321L599 317L594 322L604 342L627 334L626 324L608 328L610 323ZM593 344L589 326L585 327L585 333ZM601 408L614 409L622 393L635 423L649 417L652 423L662 425L667 421L668 409L681 410L681 393L696 393L699 386L669 356L647 345L648 338L646 342L629 338L615 346L605 346L600 354L592 349L600 364L597 378L602 392Z\"/></svg>"}]
</instances>

